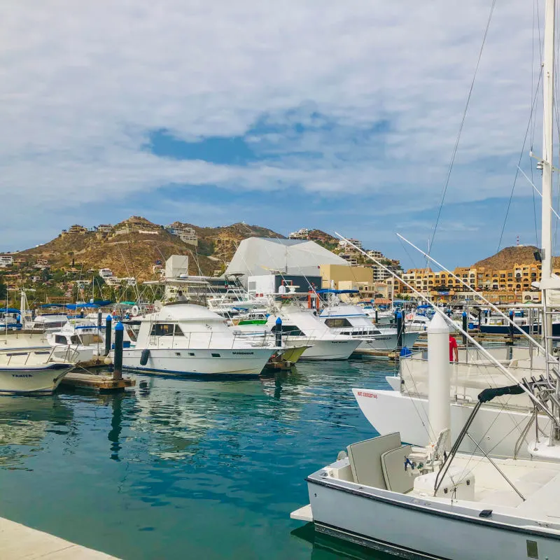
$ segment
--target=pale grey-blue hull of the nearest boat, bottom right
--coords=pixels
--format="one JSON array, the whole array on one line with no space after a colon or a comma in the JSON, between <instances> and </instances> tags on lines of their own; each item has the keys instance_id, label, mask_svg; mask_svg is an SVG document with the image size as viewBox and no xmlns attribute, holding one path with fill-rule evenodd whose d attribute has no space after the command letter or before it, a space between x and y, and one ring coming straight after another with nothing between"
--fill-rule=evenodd
<instances>
[{"instance_id":1,"label":"pale grey-blue hull of the nearest boat, bottom right","mask_svg":"<svg viewBox=\"0 0 560 560\"><path fill-rule=\"evenodd\" d=\"M558 534L482 519L472 507L434 507L406 494L321 479L320 472L307 478L307 486L321 533L407 559L526 560L529 546L538 549L533 557L558 556Z\"/></svg>"}]
</instances>

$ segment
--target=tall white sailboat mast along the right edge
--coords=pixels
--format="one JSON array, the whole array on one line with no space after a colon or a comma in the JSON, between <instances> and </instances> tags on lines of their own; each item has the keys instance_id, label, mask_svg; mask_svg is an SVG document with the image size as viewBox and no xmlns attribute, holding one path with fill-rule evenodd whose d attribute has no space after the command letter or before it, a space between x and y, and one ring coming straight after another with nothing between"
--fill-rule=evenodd
<instances>
[{"instance_id":1,"label":"tall white sailboat mast along the right edge","mask_svg":"<svg viewBox=\"0 0 560 560\"><path fill-rule=\"evenodd\" d=\"M547 283L552 276L552 162L554 150L554 34L556 0L546 0L545 6L545 45L542 60L542 283L543 335L545 348L552 350L552 316L547 315Z\"/></svg>"}]
</instances>

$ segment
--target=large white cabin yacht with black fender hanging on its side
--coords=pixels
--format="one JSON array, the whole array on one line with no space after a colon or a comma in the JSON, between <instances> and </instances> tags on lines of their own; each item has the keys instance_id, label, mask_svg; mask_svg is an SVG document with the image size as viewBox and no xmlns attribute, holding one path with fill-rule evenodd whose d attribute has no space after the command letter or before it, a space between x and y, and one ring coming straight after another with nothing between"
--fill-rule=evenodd
<instances>
[{"instance_id":1,"label":"large white cabin yacht with black fender hanging on its side","mask_svg":"<svg viewBox=\"0 0 560 560\"><path fill-rule=\"evenodd\" d=\"M275 347L247 342L206 307L167 304L141 318L136 339L123 349L123 367L145 372L231 377L260 374Z\"/></svg>"}]
</instances>

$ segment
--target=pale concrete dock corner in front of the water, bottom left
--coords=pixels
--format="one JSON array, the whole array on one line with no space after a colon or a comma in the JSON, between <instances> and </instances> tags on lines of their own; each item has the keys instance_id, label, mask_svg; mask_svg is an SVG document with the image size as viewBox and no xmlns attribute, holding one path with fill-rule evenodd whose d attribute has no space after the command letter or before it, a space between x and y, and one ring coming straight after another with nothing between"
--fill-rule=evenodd
<instances>
[{"instance_id":1,"label":"pale concrete dock corner in front of the water, bottom left","mask_svg":"<svg viewBox=\"0 0 560 560\"><path fill-rule=\"evenodd\" d=\"M118 560L43 531L0 517L0 550L3 560Z\"/></svg>"}]
</instances>

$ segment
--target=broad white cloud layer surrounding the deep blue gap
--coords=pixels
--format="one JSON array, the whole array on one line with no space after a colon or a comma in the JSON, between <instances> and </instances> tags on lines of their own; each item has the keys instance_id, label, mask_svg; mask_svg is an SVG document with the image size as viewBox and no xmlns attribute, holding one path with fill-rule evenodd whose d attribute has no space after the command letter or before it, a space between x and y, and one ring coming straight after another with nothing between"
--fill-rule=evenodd
<instances>
[{"instance_id":1,"label":"broad white cloud layer surrounding the deep blue gap","mask_svg":"<svg viewBox=\"0 0 560 560\"><path fill-rule=\"evenodd\" d=\"M43 0L5 3L0 32L2 200L12 221L119 201L169 183L301 186L434 204L490 2ZM452 185L454 201L507 195L531 104L533 6L496 8ZM323 130L318 112L333 123ZM276 133L269 160L236 167L158 158L151 130L192 140ZM389 130L353 143L356 131ZM252 133L256 136L257 132ZM260 139L271 146L272 136ZM309 160L302 151L320 155ZM489 174L481 158L498 159ZM20 214L18 214L18 211ZM3 228L0 225L0 230ZM9 235L11 228L4 231Z\"/></svg>"}]
</instances>

